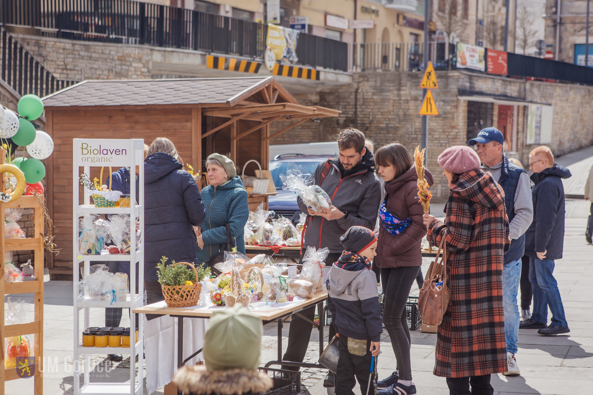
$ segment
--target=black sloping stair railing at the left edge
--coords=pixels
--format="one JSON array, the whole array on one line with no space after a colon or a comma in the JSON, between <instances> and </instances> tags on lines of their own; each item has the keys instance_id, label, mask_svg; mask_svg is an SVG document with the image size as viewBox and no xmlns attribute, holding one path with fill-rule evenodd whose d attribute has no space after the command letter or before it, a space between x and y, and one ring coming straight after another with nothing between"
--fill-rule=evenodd
<instances>
[{"instance_id":1,"label":"black sloping stair railing at the left edge","mask_svg":"<svg viewBox=\"0 0 593 395\"><path fill-rule=\"evenodd\" d=\"M43 97L76 84L76 81L55 78L4 28L0 28L0 34L0 78L19 95Z\"/></svg>"}]
</instances>

